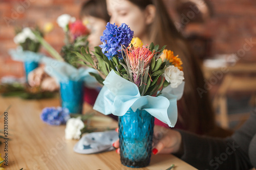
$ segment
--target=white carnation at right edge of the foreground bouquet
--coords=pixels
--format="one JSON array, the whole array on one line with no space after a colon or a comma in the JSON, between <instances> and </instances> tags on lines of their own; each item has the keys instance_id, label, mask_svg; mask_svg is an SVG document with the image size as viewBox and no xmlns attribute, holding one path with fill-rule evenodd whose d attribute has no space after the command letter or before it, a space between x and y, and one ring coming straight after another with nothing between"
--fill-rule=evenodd
<instances>
[{"instance_id":1,"label":"white carnation at right edge of the foreground bouquet","mask_svg":"<svg viewBox=\"0 0 256 170\"><path fill-rule=\"evenodd\" d=\"M170 65L165 69L164 77L172 88L177 88L182 83L182 80L184 80L183 71L179 70L174 65Z\"/></svg>"}]
</instances>

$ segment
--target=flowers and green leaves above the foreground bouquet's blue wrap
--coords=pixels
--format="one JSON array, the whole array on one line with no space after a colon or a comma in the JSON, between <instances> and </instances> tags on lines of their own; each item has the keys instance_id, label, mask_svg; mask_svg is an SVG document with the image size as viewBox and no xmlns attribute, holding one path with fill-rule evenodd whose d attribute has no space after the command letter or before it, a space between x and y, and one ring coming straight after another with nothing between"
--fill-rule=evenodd
<instances>
[{"instance_id":1,"label":"flowers and green leaves above the foreground bouquet's blue wrap","mask_svg":"<svg viewBox=\"0 0 256 170\"><path fill-rule=\"evenodd\" d=\"M120 27L108 23L100 39L103 44L94 48L93 55L89 48L81 48L81 54L74 53L81 59L80 64L98 70L99 75L92 75L102 85L112 70L136 84L141 95L155 95L169 84L176 88L182 83L182 61L178 55L174 56L172 51L164 50L165 46L159 49L159 45L154 43L149 47L144 46L138 38L132 41L133 31L125 23Z\"/></svg>"}]
</instances>

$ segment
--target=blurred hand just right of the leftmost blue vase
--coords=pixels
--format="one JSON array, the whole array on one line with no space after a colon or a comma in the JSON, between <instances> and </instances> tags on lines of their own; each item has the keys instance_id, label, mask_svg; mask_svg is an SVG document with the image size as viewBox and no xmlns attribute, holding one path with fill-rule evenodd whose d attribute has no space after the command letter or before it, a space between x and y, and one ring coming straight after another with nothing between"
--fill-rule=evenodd
<instances>
[{"instance_id":1,"label":"blurred hand just right of the leftmost blue vase","mask_svg":"<svg viewBox=\"0 0 256 170\"><path fill-rule=\"evenodd\" d=\"M31 71L28 75L28 83L30 86L40 86L43 79L47 77L44 67L38 67Z\"/></svg>"}]
</instances>

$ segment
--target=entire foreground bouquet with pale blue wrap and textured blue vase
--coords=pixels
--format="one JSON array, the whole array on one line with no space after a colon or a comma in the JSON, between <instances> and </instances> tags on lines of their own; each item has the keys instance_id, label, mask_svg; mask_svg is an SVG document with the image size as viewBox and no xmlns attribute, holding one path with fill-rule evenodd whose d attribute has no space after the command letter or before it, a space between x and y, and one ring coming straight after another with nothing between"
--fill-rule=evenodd
<instances>
[{"instance_id":1,"label":"entire foreground bouquet with pale blue wrap and textured blue vase","mask_svg":"<svg viewBox=\"0 0 256 170\"><path fill-rule=\"evenodd\" d=\"M94 109L119 116L121 163L143 167L150 163L154 117L170 127L176 124L184 77L178 56L165 46L148 47L138 39L131 43L133 34L125 23L120 27L108 23L100 37L103 44L94 48L93 55L88 48L75 54L81 64L98 70L99 75L91 75L104 85ZM180 96L172 93L174 88Z\"/></svg>"}]
</instances>

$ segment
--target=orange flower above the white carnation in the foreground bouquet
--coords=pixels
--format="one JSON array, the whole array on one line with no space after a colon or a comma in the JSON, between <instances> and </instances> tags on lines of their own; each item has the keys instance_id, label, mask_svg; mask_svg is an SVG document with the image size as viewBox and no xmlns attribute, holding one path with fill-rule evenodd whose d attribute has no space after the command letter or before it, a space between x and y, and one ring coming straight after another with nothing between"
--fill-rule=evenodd
<instances>
[{"instance_id":1,"label":"orange flower above the white carnation in the foreground bouquet","mask_svg":"<svg viewBox=\"0 0 256 170\"><path fill-rule=\"evenodd\" d=\"M170 63L172 63L172 65L174 65L175 67L178 67L179 70L182 71L183 67L181 66L183 63L180 60L180 58L178 58L179 55L174 56L174 52L170 51L170 50L163 50L163 54L160 56L160 58L162 59L162 61L168 61Z\"/></svg>"}]
</instances>

